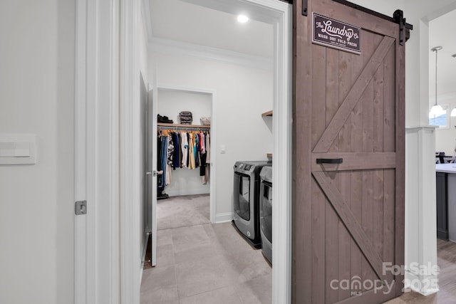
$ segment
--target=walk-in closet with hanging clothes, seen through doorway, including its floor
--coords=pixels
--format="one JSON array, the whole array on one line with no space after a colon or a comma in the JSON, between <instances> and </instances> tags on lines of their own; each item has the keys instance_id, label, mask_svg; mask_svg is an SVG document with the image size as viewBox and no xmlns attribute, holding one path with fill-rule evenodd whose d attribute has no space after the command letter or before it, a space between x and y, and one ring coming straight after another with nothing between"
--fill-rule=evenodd
<instances>
[{"instance_id":1,"label":"walk-in closet with hanging clothes, seen through doorway, including its floor","mask_svg":"<svg viewBox=\"0 0 456 304\"><path fill-rule=\"evenodd\" d=\"M210 224L212 94L157 88L157 231Z\"/></svg>"}]
</instances>

